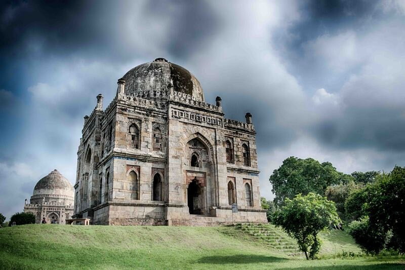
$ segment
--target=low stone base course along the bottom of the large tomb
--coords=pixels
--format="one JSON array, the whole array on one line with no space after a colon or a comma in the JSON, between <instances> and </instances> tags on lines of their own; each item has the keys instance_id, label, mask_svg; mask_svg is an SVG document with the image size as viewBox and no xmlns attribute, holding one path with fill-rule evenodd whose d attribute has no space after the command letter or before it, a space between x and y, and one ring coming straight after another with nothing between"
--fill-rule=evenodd
<instances>
[{"instance_id":1,"label":"low stone base course along the bottom of the large tomb","mask_svg":"<svg viewBox=\"0 0 405 270\"><path fill-rule=\"evenodd\" d=\"M90 216L93 214L93 216ZM107 203L94 211L86 211L83 218L91 218L93 225L151 225L151 226L218 226L235 223L267 223L266 210L230 207L210 209L210 215L192 215L184 205L113 204Z\"/></svg>"}]
</instances>

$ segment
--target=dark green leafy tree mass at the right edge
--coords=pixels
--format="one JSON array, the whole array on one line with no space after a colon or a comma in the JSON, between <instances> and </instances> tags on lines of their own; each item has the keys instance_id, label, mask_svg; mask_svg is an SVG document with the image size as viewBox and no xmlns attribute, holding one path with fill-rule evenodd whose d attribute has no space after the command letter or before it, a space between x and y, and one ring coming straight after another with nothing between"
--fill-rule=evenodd
<instances>
[{"instance_id":1,"label":"dark green leafy tree mass at the right edge","mask_svg":"<svg viewBox=\"0 0 405 270\"><path fill-rule=\"evenodd\" d=\"M377 175L374 182L353 192L346 201L346 211L351 212L351 235L355 242L367 252L378 253L388 243L405 253L405 168L395 166L389 173ZM361 223L358 223L361 222ZM359 233L367 228L365 233ZM376 241L376 234L385 241ZM371 244L370 244L371 243Z\"/></svg>"}]
</instances>

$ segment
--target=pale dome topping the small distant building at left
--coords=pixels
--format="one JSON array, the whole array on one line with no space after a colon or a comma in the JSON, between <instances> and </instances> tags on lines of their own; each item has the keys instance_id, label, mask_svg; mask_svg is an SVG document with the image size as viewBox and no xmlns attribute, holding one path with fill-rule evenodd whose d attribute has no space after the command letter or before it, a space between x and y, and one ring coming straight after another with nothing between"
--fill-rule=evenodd
<instances>
[{"instance_id":1,"label":"pale dome topping the small distant building at left","mask_svg":"<svg viewBox=\"0 0 405 270\"><path fill-rule=\"evenodd\" d=\"M33 192L35 196L74 196L72 184L58 170L53 170L47 176L39 180Z\"/></svg>"}]
</instances>

